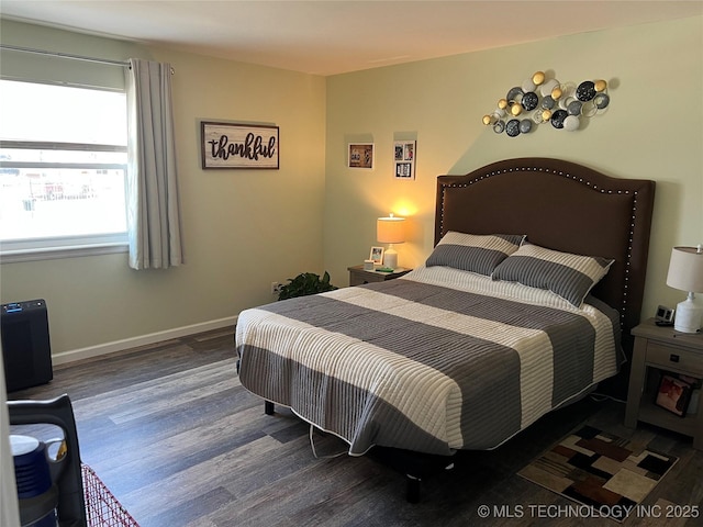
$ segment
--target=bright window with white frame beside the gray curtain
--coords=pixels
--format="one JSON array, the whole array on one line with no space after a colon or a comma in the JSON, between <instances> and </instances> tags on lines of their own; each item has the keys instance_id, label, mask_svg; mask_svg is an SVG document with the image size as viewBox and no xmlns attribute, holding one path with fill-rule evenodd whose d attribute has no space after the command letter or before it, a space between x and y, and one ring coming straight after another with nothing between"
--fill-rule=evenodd
<instances>
[{"instance_id":1,"label":"bright window with white frame beside the gray curtain","mask_svg":"<svg viewBox=\"0 0 703 527\"><path fill-rule=\"evenodd\" d=\"M125 93L0 80L0 114L3 260L79 248L124 250Z\"/></svg>"}]
</instances>

